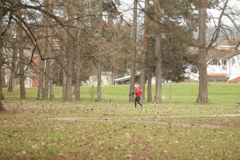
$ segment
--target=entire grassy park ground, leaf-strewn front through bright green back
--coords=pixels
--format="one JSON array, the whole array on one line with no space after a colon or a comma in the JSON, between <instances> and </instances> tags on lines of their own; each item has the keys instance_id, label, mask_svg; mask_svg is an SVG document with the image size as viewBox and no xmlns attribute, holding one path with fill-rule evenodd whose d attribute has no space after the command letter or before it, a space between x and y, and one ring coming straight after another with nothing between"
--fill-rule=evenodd
<instances>
[{"instance_id":1,"label":"entire grassy park ground, leaf-strewn front through bright green back","mask_svg":"<svg viewBox=\"0 0 240 160\"><path fill-rule=\"evenodd\" d=\"M240 158L240 84L210 84L209 104L195 103L198 84L172 84L171 100L163 84L163 103L144 109L128 102L129 86L102 87L113 104L95 104L90 89L71 103L61 102L57 87L54 102L36 101L36 88L26 89L25 101L19 89L4 89L0 159Z\"/></svg>"}]
</instances>

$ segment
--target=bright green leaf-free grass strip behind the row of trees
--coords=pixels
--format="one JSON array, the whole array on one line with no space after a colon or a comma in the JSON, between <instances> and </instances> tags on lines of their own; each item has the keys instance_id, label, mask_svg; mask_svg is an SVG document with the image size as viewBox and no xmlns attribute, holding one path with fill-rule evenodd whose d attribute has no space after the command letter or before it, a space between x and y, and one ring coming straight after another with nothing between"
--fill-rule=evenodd
<instances>
[{"instance_id":1,"label":"bright green leaf-free grass strip behind the row of trees","mask_svg":"<svg viewBox=\"0 0 240 160\"><path fill-rule=\"evenodd\" d=\"M81 87L81 101L90 101L89 94L90 87ZM147 87L145 87L145 97L147 97ZM209 84L209 100L212 103L225 103L240 101L240 84ZM15 88L14 92L7 92L7 88L3 89L3 94L6 99L19 100L19 88ZM59 93L58 93L59 92ZM26 88L27 100L36 100L37 88ZM129 94L129 85L115 85L115 86L102 86L102 98L114 99L114 101L127 102ZM164 83L162 85L162 94L164 95L164 102L195 102L198 96L198 84L193 83L173 83L171 100L170 84ZM155 95L155 86L152 87L152 95ZM54 97L56 101L62 100L62 88L54 87ZM94 99L96 99L96 94ZM74 96L73 96L74 98Z\"/></svg>"}]
</instances>

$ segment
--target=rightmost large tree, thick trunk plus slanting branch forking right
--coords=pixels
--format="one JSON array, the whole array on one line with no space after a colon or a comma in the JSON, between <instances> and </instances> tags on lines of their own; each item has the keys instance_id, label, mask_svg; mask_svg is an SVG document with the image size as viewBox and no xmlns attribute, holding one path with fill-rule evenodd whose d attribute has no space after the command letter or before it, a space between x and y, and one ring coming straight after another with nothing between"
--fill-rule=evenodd
<instances>
[{"instance_id":1,"label":"rightmost large tree, thick trunk plus slanting branch forking right","mask_svg":"<svg viewBox=\"0 0 240 160\"><path fill-rule=\"evenodd\" d=\"M219 37L219 32L222 27L222 17L227 8L229 0L226 0L223 3L223 7L221 8L221 14L218 18L218 25L216 25L215 33L213 34L209 45L206 43L206 23L207 23L207 7L211 7L216 5L218 0L210 1L208 0L195 0L195 6L198 7L199 12L199 20L198 20L198 28L199 28L199 36L198 36L198 54L199 54L199 93L197 98L197 103L208 103L208 85L207 85L207 53L208 50L213 46L216 40Z\"/></svg>"}]
</instances>

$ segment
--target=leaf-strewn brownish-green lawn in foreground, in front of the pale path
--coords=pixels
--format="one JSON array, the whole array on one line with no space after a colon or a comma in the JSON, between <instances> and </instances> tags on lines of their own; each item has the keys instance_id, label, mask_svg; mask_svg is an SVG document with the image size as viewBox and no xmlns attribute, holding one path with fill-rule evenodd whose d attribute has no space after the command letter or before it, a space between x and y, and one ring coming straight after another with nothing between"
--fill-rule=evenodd
<instances>
[{"instance_id":1,"label":"leaf-strewn brownish-green lawn in foreground, in front of the pale path","mask_svg":"<svg viewBox=\"0 0 240 160\"><path fill-rule=\"evenodd\" d=\"M2 159L235 159L240 156L239 126L228 127L221 121L218 125L222 124L222 128L207 128L157 124L167 118L148 123L153 121L138 116L78 116L80 119L58 120L54 111L45 107L23 108L1 113ZM169 119L168 122L184 123L181 118ZM228 119L232 121L231 117ZM185 121L191 123L191 118Z\"/></svg>"}]
</instances>

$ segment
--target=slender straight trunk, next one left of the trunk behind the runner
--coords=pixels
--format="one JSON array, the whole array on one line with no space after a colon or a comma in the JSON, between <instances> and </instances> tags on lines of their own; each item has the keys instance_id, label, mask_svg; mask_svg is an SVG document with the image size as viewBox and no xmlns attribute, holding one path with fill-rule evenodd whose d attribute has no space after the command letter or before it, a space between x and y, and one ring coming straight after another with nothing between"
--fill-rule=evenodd
<instances>
[{"instance_id":1,"label":"slender straight trunk, next one left of the trunk behind the runner","mask_svg":"<svg viewBox=\"0 0 240 160\"><path fill-rule=\"evenodd\" d=\"M102 53L101 50L101 45L102 45L102 3L103 0L99 0L99 53ZM97 99L98 101L102 100L102 93L101 93L101 75L102 75L102 70L101 70L101 55L98 57L98 74L97 74Z\"/></svg>"}]
</instances>

